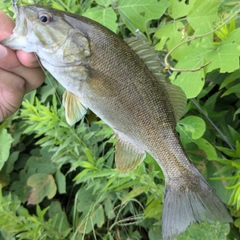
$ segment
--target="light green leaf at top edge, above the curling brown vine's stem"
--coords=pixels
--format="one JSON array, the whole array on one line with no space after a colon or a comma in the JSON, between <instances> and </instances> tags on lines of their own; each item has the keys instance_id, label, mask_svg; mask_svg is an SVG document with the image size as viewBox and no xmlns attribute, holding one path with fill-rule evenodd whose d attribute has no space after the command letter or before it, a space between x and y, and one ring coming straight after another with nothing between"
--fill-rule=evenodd
<instances>
[{"instance_id":1,"label":"light green leaf at top edge, above the curling brown vine's stem","mask_svg":"<svg viewBox=\"0 0 240 240\"><path fill-rule=\"evenodd\" d=\"M204 34L213 29L213 24L219 22L218 8L221 1L196 0L191 8L187 21L197 34Z\"/></svg>"}]
</instances>

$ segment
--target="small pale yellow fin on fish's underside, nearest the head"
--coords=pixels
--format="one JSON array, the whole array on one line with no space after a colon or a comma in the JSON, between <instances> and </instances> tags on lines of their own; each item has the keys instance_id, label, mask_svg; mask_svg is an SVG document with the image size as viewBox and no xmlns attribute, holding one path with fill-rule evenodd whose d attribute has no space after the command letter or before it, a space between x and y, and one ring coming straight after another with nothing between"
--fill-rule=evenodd
<instances>
[{"instance_id":1,"label":"small pale yellow fin on fish's underside, nearest the head","mask_svg":"<svg viewBox=\"0 0 240 240\"><path fill-rule=\"evenodd\" d=\"M65 91L63 94L63 106L67 123L73 125L78 122L87 112L87 108L80 99L71 92Z\"/></svg>"}]
</instances>

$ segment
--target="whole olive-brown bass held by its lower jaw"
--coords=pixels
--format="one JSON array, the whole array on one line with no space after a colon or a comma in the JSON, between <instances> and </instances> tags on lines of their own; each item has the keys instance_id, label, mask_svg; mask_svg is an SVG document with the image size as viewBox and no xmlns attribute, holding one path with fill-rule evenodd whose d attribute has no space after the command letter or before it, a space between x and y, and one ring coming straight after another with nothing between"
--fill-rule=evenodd
<instances>
[{"instance_id":1,"label":"whole olive-brown bass held by its lower jaw","mask_svg":"<svg viewBox=\"0 0 240 240\"><path fill-rule=\"evenodd\" d=\"M120 172L135 169L148 152L165 176L162 239L192 223L232 222L225 204L186 155L176 124L186 96L164 80L157 54L142 39L123 40L101 24L52 8L16 6L13 34L1 43L34 52L66 89L66 119L94 112L114 131Z\"/></svg>"}]
</instances>

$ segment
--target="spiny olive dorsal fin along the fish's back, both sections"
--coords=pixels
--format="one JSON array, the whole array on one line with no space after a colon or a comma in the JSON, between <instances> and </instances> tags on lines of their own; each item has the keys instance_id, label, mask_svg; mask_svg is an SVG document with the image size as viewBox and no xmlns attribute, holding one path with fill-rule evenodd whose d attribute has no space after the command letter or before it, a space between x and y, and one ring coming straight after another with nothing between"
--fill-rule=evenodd
<instances>
[{"instance_id":1,"label":"spiny olive dorsal fin along the fish's back, both sections","mask_svg":"<svg viewBox=\"0 0 240 240\"><path fill-rule=\"evenodd\" d=\"M150 71L155 77L161 81L161 84L165 87L170 104L172 106L176 122L180 120L186 110L187 98L183 90L171 83L166 82L165 75L163 74L163 66L158 57L158 53L149 42L139 38L128 38L125 42L130 48L137 53L137 55L144 61Z\"/></svg>"}]
</instances>

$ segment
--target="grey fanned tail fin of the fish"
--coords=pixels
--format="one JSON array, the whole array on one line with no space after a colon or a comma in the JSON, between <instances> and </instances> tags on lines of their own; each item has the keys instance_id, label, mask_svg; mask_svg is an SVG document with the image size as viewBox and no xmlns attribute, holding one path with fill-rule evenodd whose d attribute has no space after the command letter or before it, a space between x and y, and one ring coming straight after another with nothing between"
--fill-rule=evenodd
<instances>
[{"instance_id":1,"label":"grey fanned tail fin of the fish","mask_svg":"<svg viewBox=\"0 0 240 240\"><path fill-rule=\"evenodd\" d=\"M203 176L169 179L165 187L162 215L163 240L173 240L194 222L232 222L224 203Z\"/></svg>"}]
</instances>

